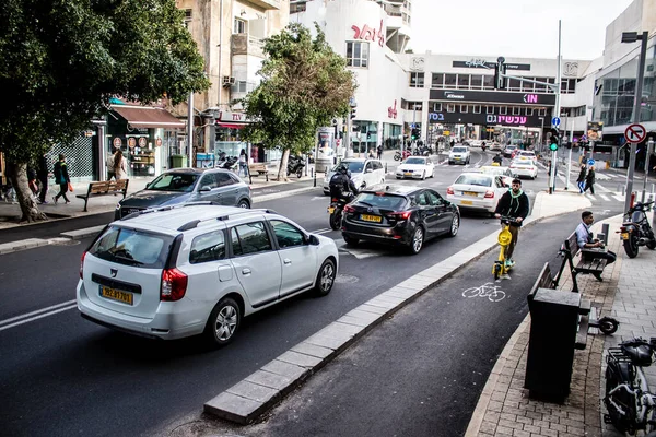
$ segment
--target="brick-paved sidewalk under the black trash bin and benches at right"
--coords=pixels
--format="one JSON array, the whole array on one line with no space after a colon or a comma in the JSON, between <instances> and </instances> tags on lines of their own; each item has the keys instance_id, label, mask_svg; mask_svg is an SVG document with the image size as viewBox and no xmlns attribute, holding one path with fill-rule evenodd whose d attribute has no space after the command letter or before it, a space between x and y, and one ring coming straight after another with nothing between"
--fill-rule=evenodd
<instances>
[{"instance_id":1,"label":"brick-paved sidewalk under the black trash bin and benches at right","mask_svg":"<svg viewBox=\"0 0 656 437\"><path fill-rule=\"evenodd\" d=\"M604 424L606 350L633 336L656 336L656 252L641 247L635 259L625 257L616 234L622 223L618 215L601 223L610 225L609 250L617 261L605 269L604 282L590 275L577 276L583 296L598 309L598 317L611 316L620 321L613 335L588 335L587 346L575 351L571 393L565 403L553 404L528 398L524 388L530 315L526 317L506 344L479 399L466 436L620 436L611 425ZM552 270L554 267L552 267ZM563 292L572 290L569 272L563 274ZM648 383L656 387L656 369L647 369Z\"/></svg>"}]
</instances>

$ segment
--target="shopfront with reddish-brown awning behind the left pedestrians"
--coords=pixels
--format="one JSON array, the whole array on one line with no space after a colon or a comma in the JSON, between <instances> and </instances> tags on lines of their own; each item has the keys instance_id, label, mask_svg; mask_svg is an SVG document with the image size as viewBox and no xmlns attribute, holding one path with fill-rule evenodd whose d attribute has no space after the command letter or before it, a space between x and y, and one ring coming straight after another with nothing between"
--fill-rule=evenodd
<instances>
[{"instance_id":1,"label":"shopfront with reddish-brown awning behind the left pedestrians","mask_svg":"<svg viewBox=\"0 0 656 437\"><path fill-rule=\"evenodd\" d=\"M173 166L172 156L185 153L183 129L185 122L164 108L112 105L102 162L120 150L128 162L128 177L156 176Z\"/></svg>"}]
</instances>

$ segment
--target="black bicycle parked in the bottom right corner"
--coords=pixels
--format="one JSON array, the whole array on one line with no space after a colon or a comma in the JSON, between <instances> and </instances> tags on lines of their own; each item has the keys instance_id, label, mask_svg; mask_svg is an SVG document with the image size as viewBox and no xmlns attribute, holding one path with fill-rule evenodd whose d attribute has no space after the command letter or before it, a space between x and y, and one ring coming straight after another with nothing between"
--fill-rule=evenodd
<instances>
[{"instance_id":1,"label":"black bicycle parked in the bottom right corner","mask_svg":"<svg viewBox=\"0 0 656 437\"><path fill-rule=\"evenodd\" d=\"M637 430L653 436L656 430L656 395L649 392L643 367L655 358L656 339L635 338L609 347L606 357L606 395L608 414L604 422L630 436ZM654 433L654 434L651 434Z\"/></svg>"}]
</instances>

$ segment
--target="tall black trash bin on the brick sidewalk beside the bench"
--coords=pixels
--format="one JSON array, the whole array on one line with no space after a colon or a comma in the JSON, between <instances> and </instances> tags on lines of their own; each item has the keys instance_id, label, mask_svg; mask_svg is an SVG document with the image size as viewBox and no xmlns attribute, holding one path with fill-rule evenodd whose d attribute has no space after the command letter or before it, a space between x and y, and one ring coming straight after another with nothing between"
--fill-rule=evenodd
<instances>
[{"instance_id":1,"label":"tall black trash bin on the brick sidewalk beside the bench","mask_svg":"<svg viewBox=\"0 0 656 437\"><path fill-rule=\"evenodd\" d=\"M562 403L570 394L578 315L583 311L581 294L538 288L529 311L524 387L532 399Z\"/></svg>"}]
</instances>

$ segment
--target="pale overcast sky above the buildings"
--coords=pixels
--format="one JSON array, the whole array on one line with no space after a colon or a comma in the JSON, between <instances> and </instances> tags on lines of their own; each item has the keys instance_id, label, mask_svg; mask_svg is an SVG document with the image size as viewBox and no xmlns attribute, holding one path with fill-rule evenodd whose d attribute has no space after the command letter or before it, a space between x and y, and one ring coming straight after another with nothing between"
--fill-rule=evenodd
<instances>
[{"instance_id":1,"label":"pale overcast sky above the buildings","mask_svg":"<svg viewBox=\"0 0 656 437\"><path fill-rule=\"evenodd\" d=\"M415 54L591 60L604 51L606 26L633 0L412 0Z\"/></svg>"}]
</instances>

